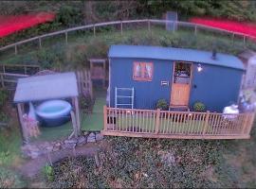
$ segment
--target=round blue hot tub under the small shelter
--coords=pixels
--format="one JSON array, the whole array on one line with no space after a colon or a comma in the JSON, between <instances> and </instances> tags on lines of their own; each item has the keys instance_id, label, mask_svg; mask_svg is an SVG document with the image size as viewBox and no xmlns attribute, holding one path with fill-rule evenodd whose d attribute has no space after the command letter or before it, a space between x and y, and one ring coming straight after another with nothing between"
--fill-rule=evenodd
<instances>
[{"instance_id":1,"label":"round blue hot tub under the small shelter","mask_svg":"<svg viewBox=\"0 0 256 189\"><path fill-rule=\"evenodd\" d=\"M70 120L71 109L67 101L48 100L36 108L36 114L43 127L57 127Z\"/></svg>"}]
</instances>

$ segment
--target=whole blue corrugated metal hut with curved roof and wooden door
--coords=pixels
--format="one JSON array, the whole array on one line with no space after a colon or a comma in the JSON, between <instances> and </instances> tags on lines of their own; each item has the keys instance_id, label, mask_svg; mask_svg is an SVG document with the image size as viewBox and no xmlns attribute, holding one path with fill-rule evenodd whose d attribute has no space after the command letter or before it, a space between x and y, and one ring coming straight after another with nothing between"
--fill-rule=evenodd
<instances>
[{"instance_id":1,"label":"whole blue corrugated metal hut with curved roof and wooden door","mask_svg":"<svg viewBox=\"0 0 256 189\"><path fill-rule=\"evenodd\" d=\"M222 112L237 102L244 74L238 58L207 51L142 45L112 45L109 50L110 106L155 109L164 98L170 107L203 102L207 110ZM115 89L125 89L118 91Z\"/></svg>"}]
</instances>

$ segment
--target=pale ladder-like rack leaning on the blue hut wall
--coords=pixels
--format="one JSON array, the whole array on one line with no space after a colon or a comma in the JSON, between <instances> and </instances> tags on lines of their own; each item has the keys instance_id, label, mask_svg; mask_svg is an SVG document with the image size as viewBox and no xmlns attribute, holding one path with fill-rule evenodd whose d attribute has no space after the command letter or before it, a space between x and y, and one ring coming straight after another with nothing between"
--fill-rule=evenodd
<instances>
[{"instance_id":1,"label":"pale ladder-like rack leaning on the blue hut wall","mask_svg":"<svg viewBox=\"0 0 256 189\"><path fill-rule=\"evenodd\" d=\"M119 93L121 91L130 91L130 94L131 95L120 95ZM131 103L120 103L119 104L119 99L122 99L122 98L130 98L130 101ZM135 98L135 88L118 88L118 87L115 87L115 108L119 108L119 106L129 106L131 107L131 109L134 109L134 98Z\"/></svg>"}]
</instances>

